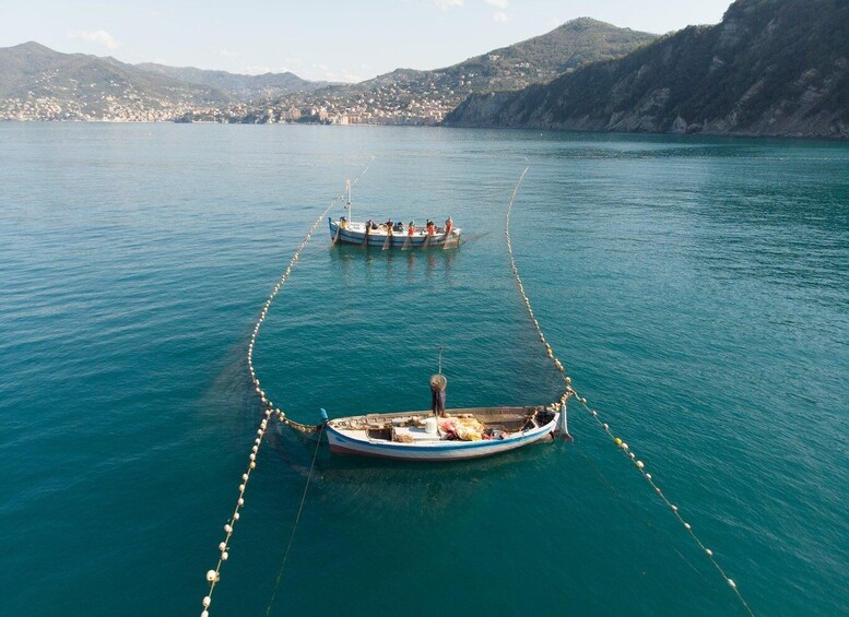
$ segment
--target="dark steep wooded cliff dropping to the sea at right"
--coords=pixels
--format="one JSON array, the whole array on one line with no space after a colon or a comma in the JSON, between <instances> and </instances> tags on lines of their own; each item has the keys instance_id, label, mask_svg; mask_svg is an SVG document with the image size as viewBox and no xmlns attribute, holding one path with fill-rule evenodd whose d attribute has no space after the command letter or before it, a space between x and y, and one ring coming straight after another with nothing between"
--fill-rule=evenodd
<instances>
[{"instance_id":1,"label":"dark steep wooded cliff dropping to the sea at right","mask_svg":"<svg viewBox=\"0 0 849 617\"><path fill-rule=\"evenodd\" d=\"M718 25L470 96L445 123L849 139L849 2L738 0Z\"/></svg>"}]
</instances>

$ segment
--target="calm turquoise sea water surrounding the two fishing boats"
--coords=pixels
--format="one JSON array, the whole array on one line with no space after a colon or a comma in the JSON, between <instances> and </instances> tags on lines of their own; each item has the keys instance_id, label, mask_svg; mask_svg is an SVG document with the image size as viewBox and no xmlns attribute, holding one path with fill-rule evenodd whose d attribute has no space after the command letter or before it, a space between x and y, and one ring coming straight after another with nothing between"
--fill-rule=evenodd
<instances>
[{"instance_id":1,"label":"calm turquoise sea water surrounding the two fishing boats","mask_svg":"<svg viewBox=\"0 0 849 617\"><path fill-rule=\"evenodd\" d=\"M368 127L0 124L0 614L199 615L260 407L317 423L575 387L757 615L849 613L849 144ZM339 216L341 210L333 211ZM269 431L211 615L744 615L578 405L574 444L402 464ZM278 577L280 581L278 585ZM276 589L276 594L275 594ZM272 596L274 597L273 603ZM271 605L271 606L270 606ZM270 610L269 610L270 606Z\"/></svg>"}]
</instances>

